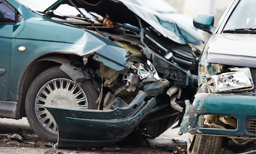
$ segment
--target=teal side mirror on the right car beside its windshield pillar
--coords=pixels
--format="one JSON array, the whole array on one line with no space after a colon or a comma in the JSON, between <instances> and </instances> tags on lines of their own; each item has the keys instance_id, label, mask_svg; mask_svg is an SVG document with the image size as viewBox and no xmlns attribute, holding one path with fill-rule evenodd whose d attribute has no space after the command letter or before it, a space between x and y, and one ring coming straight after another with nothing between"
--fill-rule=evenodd
<instances>
[{"instance_id":1,"label":"teal side mirror on the right car beside its windshield pillar","mask_svg":"<svg viewBox=\"0 0 256 154\"><path fill-rule=\"evenodd\" d=\"M196 28L212 34L210 29L214 24L214 16L206 13L197 13L194 17L193 24Z\"/></svg>"}]
</instances>

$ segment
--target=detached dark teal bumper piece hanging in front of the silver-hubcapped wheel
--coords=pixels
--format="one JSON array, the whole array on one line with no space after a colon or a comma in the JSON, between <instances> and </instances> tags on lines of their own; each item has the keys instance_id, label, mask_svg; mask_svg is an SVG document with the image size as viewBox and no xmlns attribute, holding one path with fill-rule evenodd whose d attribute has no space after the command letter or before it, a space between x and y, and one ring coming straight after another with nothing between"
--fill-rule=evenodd
<instances>
[{"instance_id":1,"label":"detached dark teal bumper piece hanging in front of the silver-hubcapped wheel","mask_svg":"<svg viewBox=\"0 0 256 154\"><path fill-rule=\"evenodd\" d=\"M103 148L121 141L156 105L146 93L138 95L127 107L114 110L70 110L45 107L58 125L57 148Z\"/></svg>"}]
</instances>

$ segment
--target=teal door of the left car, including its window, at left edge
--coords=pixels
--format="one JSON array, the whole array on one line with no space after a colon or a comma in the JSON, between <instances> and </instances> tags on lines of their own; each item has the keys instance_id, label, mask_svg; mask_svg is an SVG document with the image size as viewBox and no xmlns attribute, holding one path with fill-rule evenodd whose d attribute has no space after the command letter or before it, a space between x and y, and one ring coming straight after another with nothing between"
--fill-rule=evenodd
<instances>
[{"instance_id":1,"label":"teal door of the left car, including its window, at left edge","mask_svg":"<svg viewBox=\"0 0 256 154\"><path fill-rule=\"evenodd\" d=\"M12 33L15 21L15 9L6 1L0 0L0 100L8 98Z\"/></svg>"}]
</instances>

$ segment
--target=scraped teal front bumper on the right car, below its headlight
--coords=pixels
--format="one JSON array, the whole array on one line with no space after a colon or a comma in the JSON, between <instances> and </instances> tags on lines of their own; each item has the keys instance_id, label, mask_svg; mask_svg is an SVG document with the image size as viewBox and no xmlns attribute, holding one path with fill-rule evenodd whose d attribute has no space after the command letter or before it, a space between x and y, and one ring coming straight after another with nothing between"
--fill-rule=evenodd
<instances>
[{"instance_id":1,"label":"scraped teal front bumper on the right car, below its headlight","mask_svg":"<svg viewBox=\"0 0 256 154\"><path fill-rule=\"evenodd\" d=\"M236 116L236 129L199 128L201 114ZM256 138L256 96L199 93L193 105L186 103L179 134L221 135Z\"/></svg>"}]
</instances>

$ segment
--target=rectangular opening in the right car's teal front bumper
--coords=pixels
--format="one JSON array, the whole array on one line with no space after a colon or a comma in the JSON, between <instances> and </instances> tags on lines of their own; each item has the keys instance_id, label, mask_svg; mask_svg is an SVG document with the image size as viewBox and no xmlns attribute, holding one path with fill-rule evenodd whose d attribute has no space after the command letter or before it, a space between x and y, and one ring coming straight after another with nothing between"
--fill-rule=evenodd
<instances>
[{"instance_id":1,"label":"rectangular opening in the right car's teal front bumper","mask_svg":"<svg viewBox=\"0 0 256 154\"><path fill-rule=\"evenodd\" d=\"M218 115L218 114L201 114L198 116L199 128L218 128L218 129L228 129L236 130L237 128L237 118L232 115Z\"/></svg>"}]
</instances>

